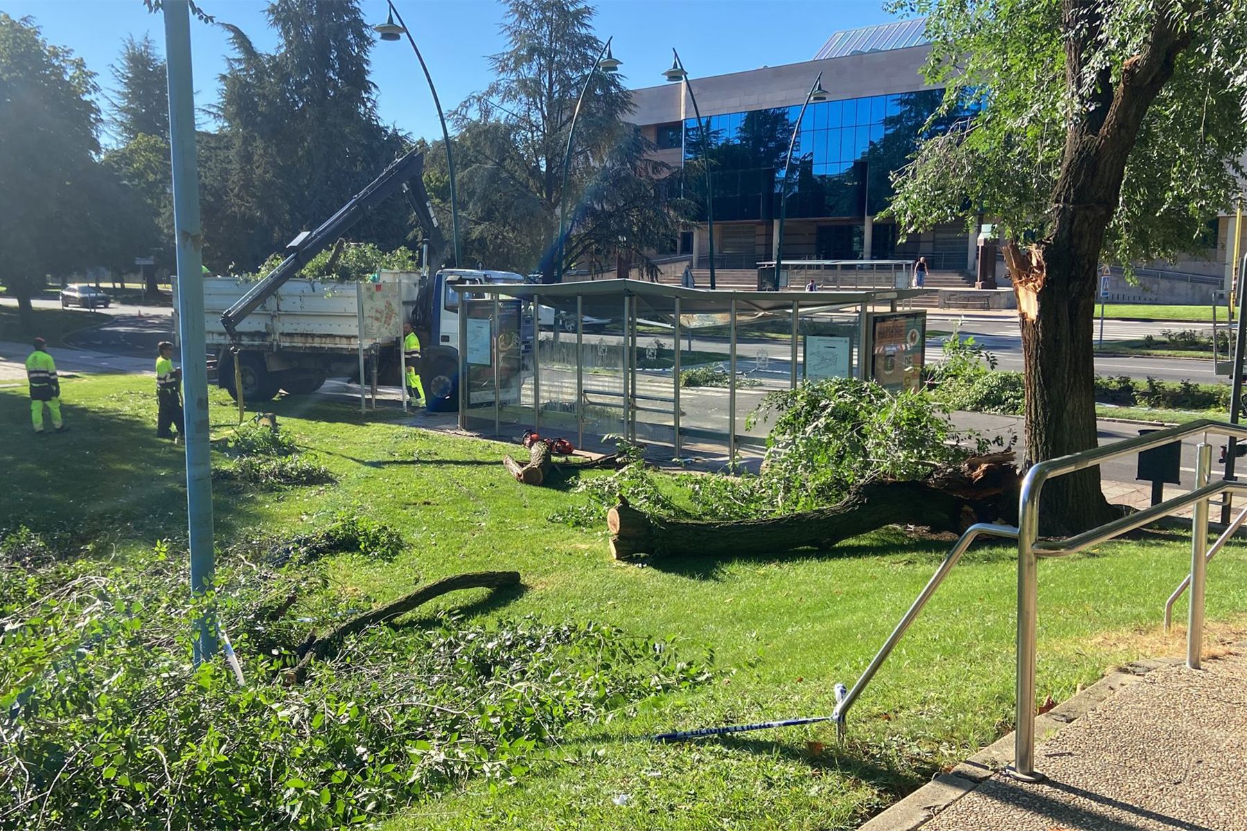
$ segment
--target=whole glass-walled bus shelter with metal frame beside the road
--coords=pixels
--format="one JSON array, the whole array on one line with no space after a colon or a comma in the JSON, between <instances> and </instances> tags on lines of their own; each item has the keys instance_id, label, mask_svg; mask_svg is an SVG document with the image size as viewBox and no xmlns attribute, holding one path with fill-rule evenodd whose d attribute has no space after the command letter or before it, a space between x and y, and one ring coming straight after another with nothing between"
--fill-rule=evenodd
<instances>
[{"instance_id":1,"label":"whole glass-walled bus shelter with metal frame beside the road","mask_svg":"<svg viewBox=\"0 0 1247 831\"><path fill-rule=\"evenodd\" d=\"M459 425L503 435L761 445L762 399L807 379L917 389L922 289L731 292L643 280L461 287ZM519 306L516 308L516 303Z\"/></svg>"}]
</instances>

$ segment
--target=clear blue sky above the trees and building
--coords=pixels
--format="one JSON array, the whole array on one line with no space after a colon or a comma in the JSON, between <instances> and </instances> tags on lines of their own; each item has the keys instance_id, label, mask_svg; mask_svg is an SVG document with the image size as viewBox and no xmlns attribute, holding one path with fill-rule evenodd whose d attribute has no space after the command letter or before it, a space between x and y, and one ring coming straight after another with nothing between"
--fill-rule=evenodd
<instances>
[{"instance_id":1,"label":"clear blue sky above the trees and building","mask_svg":"<svg viewBox=\"0 0 1247 831\"><path fill-rule=\"evenodd\" d=\"M217 20L248 34L269 50L276 36L259 0L197 0ZM450 110L491 80L488 56L501 51L503 6L493 0L395 0ZM671 47L680 50L696 81L721 75L811 60L832 32L884 22L892 17L880 0L599 0L599 37L614 35L612 52L624 61L620 74L631 88L662 83ZM364 0L370 21L385 19L385 0ZM163 52L165 30L142 0L0 0L0 11L31 16L44 37L67 46L99 75L107 93L110 65L126 35L148 34ZM229 44L219 26L192 21L196 105L217 98L217 76ZM373 81L382 118L415 136L440 136L433 100L415 56L405 42L378 42ZM104 102L101 102L104 105ZM105 111L107 106L105 105ZM201 116L201 123L207 120Z\"/></svg>"}]
</instances>

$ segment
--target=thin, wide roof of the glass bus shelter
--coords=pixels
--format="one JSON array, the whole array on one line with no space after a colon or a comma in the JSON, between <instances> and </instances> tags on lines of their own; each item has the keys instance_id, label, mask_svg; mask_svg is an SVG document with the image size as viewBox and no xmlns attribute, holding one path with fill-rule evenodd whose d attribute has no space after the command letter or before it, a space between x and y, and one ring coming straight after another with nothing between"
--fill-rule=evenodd
<instances>
[{"instance_id":1,"label":"thin, wide roof of the glass bus shelter","mask_svg":"<svg viewBox=\"0 0 1247 831\"><path fill-rule=\"evenodd\" d=\"M650 283L647 280L584 280L576 283L486 283L459 284L456 292L471 294L499 294L531 300L534 297L541 305L551 306L564 314L576 314L576 302L580 299L582 315L594 318L615 318L620 314L625 297L632 298L635 315L651 320L671 321L676 313L676 300L680 300L680 315L725 314L736 300L737 313L788 314L793 305L799 311L834 311L845 306L857 306L892 300L905 300L922 294L927 289L865 289L857 292L732 292L725 289L688 289L682 285Z\"/></svg>"}]
</instances>

